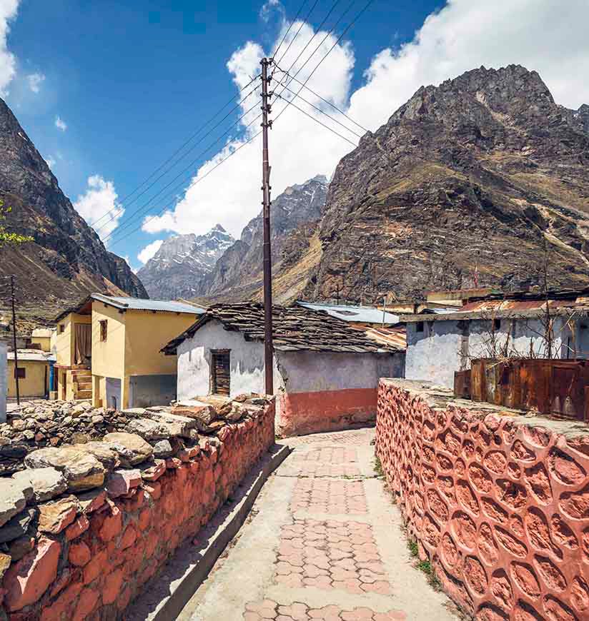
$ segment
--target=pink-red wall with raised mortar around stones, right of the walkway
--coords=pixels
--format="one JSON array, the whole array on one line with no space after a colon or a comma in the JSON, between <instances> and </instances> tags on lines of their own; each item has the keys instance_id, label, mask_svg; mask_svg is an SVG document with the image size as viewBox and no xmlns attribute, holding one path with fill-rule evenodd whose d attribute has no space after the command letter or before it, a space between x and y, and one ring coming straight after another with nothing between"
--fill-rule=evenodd
<instances>
[{"instance_id":1,"label":"pink-red wall with raised mortar around stones, right of the walkway","mask_svg":"<svg viewBox=\"0 0 589 621\"><path fill-rule=\"evenodd\" d=\"M589 618L589 429L381 380L376 451L420 556L485 621Z\"/></svg>"}]
</instances>

